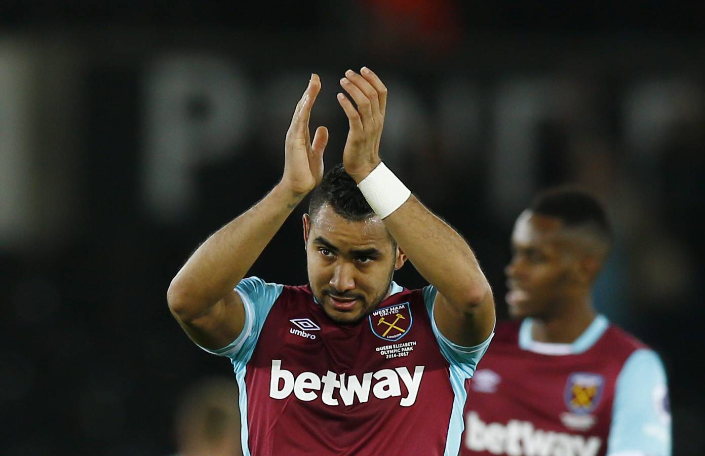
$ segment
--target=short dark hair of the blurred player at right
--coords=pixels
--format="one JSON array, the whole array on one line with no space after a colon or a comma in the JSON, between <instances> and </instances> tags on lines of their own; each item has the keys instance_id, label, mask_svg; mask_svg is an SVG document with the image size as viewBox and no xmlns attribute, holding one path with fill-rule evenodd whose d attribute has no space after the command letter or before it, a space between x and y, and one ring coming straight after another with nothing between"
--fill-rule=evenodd
<instances>
[{"instance_id":1,"label":"short dark hair of the blurred player at right","mask_svg":"<svg viewBox=\"0 0 705 456\"><path fill-rule=\"evenodd\" d=\"M527 208L534 214L560 218L568 228L591 228L610 242L612 230L602 204L590 192L562 185L540 192Z\"/></svg>"}]
</instances>

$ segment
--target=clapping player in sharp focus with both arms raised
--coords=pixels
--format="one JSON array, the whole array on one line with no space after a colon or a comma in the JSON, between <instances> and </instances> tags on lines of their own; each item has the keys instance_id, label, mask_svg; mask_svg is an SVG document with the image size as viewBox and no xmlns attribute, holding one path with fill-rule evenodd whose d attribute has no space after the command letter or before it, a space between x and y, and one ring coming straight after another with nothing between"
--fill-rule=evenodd
<instances>
[{"instance_id":1,"label":"clapping player in sharp focus with both arms raised","mask_svg":"<svg viewBox=\"0 0 705 456\"><path fill-rule=\"evenodd\" d=\"M492 292L465 240L381 162L381 80L348 70L341 86L357 105L338 94L350 125L342 166L324 176L326 128L309 140L321 87L312 75L281 181L192 254L168 304L195 343L231 358L245 455L457 455L463 386L494 328ZM308 285L243 279L312 190ZM392 281L407 257L431 285Z\"/></svg>"}]
</instances>

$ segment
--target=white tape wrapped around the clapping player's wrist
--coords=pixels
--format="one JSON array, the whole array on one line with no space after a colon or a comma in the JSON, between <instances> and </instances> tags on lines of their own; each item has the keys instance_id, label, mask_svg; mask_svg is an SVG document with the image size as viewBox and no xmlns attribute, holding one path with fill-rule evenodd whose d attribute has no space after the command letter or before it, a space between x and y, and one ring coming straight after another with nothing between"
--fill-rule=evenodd
<instances>
[{"instance_id":1,"label":"white tape wrapped around the clapping player's wrist","mask_svg":"<svg viewBox=\"0 0 705 456\"><path fill-rule=\"evenodd\" d=\"M385 218L409 199L409 190L383 162L362 179L357 188L379 218Z\"/></svg>"}]
</instances>

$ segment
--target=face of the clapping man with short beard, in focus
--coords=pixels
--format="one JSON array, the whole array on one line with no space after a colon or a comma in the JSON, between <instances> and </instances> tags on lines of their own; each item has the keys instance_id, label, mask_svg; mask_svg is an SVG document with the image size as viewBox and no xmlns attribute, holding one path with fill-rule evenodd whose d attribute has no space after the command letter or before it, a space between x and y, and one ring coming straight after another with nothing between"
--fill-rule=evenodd
<instances>
[{"instance_id":1,"label":"face of the clapping man with short beard, in focus","mask_svg":"<svg viewBox=\"0 0 705 456\"><path fill-rule=\"evenodd\" d=\"M336 323L356 323L376 309L406 259L379 218L348 221L328 204L304 216L304 240L314 297Z\"/></svg>"}]
</instances>

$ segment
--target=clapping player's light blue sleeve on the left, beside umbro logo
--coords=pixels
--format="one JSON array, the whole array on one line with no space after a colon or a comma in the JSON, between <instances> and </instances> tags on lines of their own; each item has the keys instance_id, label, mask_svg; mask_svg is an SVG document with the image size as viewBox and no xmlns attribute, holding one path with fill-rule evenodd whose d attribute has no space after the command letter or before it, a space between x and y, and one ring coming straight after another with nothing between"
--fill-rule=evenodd
<instances>
[{"instance_id":1,"label":"clapping player's light blue sleeve on the left, beside umbro logo","mask_svg":"<svg viewBox=\"0 0 705 456\"><path fill-rule=\"evenodd\" d=\"M240 294L245 306L245 326L243 326L243 331L238 335L238 338L226 347L218 350L201 348L214 355L231 358L237 370L238 362L247 362L250 359L252 351L255 350L259 332L262 331L262 326L264 326L264 320L266 320L266 316L269 314L274 302L281 295L283 288L283 285L277 285L276 283L265 283L259 277L244 278L235 287L235 291Z\"/></svg>"}]
</instances>

